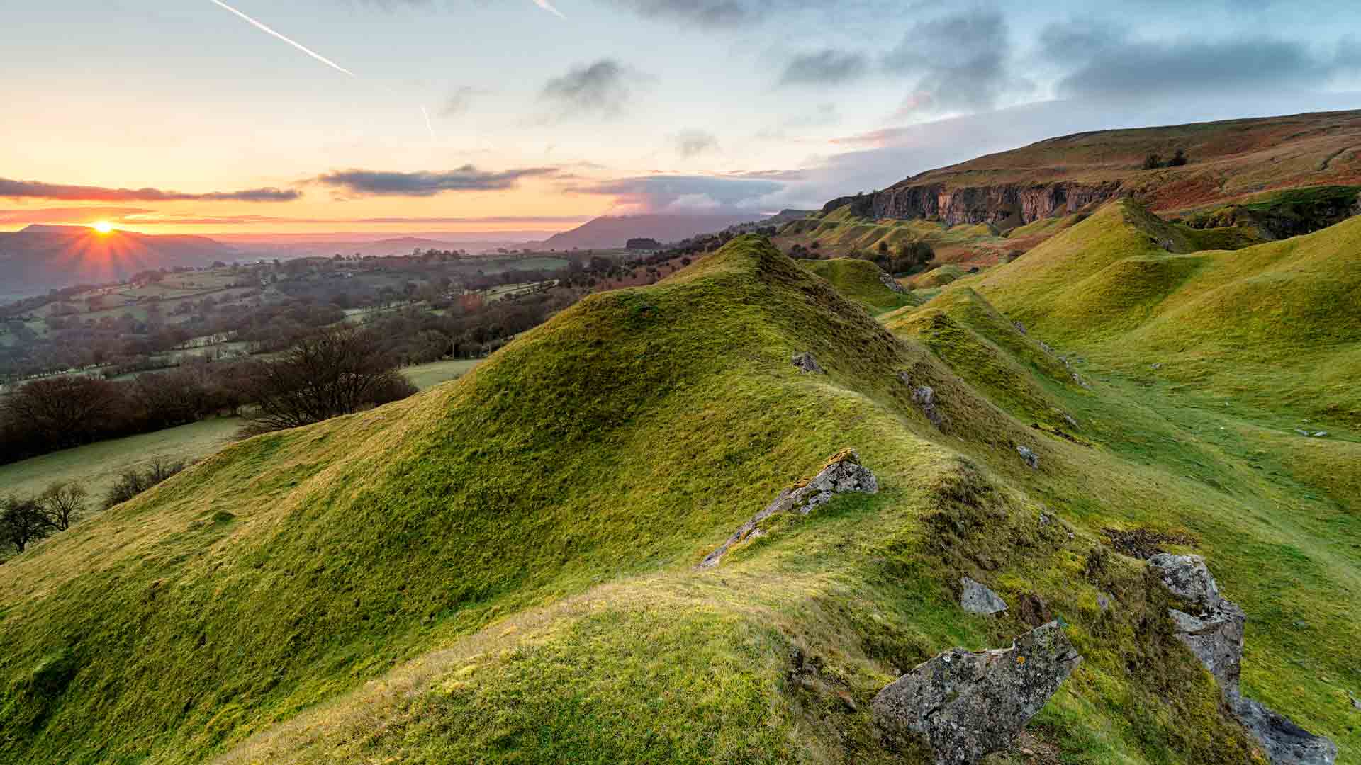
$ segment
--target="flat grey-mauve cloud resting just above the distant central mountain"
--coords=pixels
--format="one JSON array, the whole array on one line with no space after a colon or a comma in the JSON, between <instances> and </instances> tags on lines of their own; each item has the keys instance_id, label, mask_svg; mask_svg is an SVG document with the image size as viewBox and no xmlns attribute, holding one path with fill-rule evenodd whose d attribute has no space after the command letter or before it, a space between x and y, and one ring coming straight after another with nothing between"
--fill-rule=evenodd
<instances>
[{"instance_id":1,"label":"flat grey-mauve cloud resting just above the distant central mountain","mask_svg":"<svg viewBox=\"0 0 1361 765\"><path fill-rule=\"evenodd\" d=\"M634 211L754 210L758 200L784 188L766 178L727 176L638 176L570 186L565 191L615 197Z\"/></svg>"}]
</instances>

